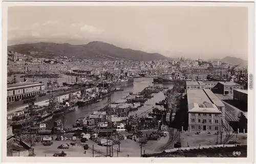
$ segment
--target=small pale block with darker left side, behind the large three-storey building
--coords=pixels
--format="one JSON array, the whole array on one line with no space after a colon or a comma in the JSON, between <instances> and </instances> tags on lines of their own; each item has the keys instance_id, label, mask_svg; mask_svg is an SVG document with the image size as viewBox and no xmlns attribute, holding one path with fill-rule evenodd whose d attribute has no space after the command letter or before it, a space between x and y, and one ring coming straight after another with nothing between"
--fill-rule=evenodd
<instances>
[{"instance_id":1,"label":"small pale block with darker left side, behind the large three-storey building","mask_svg":"<svg viewBox=\"0 0 256 164\"><path fill-rule=\"evenodd\" d=\"M220 93L220 94L230 95L230 94L233 94L233 89L243 89L244 87L241 86L240 84L237 84L234 82L220 81L215 86L215 88L217 89L218 93Z\"/></svg>"}]
</instances>

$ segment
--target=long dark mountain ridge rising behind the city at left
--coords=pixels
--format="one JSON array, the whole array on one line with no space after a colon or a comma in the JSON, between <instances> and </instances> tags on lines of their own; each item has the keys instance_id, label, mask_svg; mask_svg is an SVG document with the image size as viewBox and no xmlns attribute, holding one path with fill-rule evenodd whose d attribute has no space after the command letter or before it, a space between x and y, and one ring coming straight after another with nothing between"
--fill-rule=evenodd
<instances>
[{"instance_id":1,"label":"long dark mountain ridge rising behind the city at left","mask_svg":"<svg viewBox=\"0 0 256 164\"><path fill-rule=\"evenodd\" d=\"M22 54L38 52L34 57L53 58L56 56L74 56L77 59L93 60L133 60L150 61L169 59L158 53L146 53L132 49L122 49L113 44L93 41L84 45L72 45L68 43L27 43L8 46L8 51L15 51Z\"/></svg>"}]
</instances>

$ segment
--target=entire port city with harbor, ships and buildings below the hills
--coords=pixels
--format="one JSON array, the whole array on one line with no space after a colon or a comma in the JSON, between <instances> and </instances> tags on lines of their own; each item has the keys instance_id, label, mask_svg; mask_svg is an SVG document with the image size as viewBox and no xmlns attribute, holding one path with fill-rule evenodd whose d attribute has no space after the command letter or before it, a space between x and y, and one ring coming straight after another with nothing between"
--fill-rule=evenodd
<instances>
[{"instance_id":1,"label":"entire port city with harbor, ships and buildings below the hills","mask_svg":"<svg viewBox=\"0 0 256 164\"><path fill-rule=\"evenodd\" d=\"M246 66L37 53L7 54L8 156L246 156Z\"/></svg>"}]
</instances>

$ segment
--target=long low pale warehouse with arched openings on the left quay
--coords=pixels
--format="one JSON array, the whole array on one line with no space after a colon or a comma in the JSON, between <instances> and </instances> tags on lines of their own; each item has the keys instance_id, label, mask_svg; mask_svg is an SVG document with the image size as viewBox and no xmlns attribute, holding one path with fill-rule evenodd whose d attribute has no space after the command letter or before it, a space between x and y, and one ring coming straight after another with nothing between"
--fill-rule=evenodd
<instances>
[{"instance_id":1,"label":"long low pale warehouse with arched openings on the left quay","mask_svg":"<svg viewBox=\"0 0 256 164\"><path fill-rule=\"evenodd\" d=\"M39 96L45 91L45 85L40 82L24 82L7 85L7 102L29 96Z\"/></svg>"}]
</instances>

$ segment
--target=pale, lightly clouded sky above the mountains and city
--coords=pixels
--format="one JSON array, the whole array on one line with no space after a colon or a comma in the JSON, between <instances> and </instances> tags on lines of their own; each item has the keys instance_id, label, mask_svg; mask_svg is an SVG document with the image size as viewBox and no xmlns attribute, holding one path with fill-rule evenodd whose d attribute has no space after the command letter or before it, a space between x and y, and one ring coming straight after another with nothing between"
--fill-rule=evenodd
<instances>
[{"instance_id":1,"label":"pale, lightly clouded sky above the mountains and city","mask_svg":"<svg viewBox=\"0 0 256 164\"><path fill-rule=\"evenodd\" d=\"M9 7L8 45L103 41L168 57L247 60L244 7Z\"/></svg>"}]
</instances>

